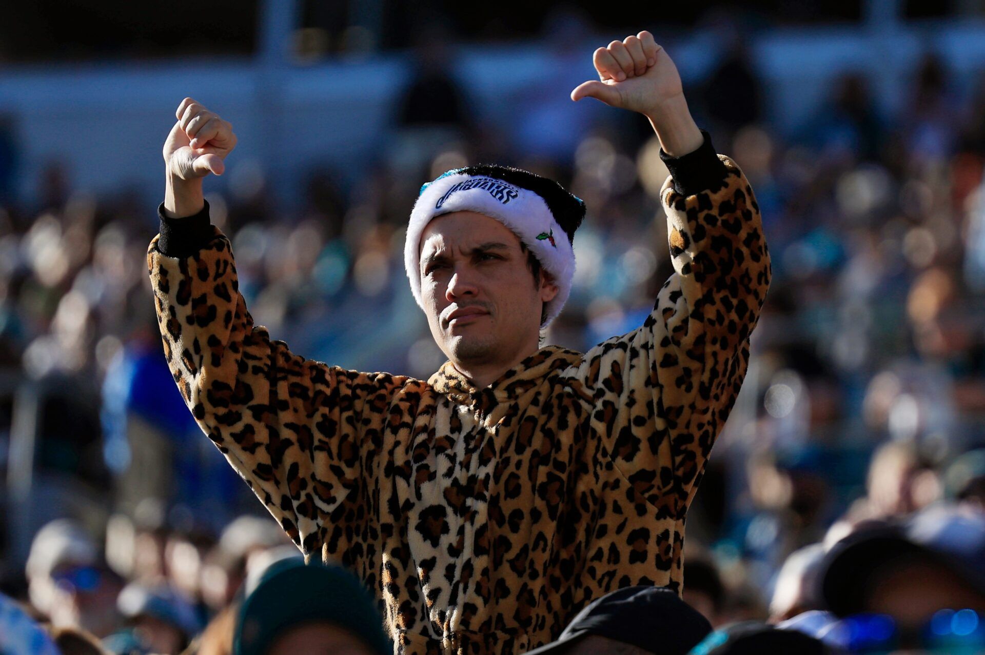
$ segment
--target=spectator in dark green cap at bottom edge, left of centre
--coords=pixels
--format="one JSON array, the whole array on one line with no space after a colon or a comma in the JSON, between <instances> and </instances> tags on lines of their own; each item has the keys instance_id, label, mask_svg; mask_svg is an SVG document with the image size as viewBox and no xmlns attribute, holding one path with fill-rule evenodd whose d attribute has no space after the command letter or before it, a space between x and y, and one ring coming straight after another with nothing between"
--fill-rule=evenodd
<instances>
[{"instance_id":1,"label":"spectator in dark green cap at bottom edge, left of centre","mask_svg":"<svg viewBox=\"0 0 985 655\"><path fill-rule=\"evenodd\" d=\"M340 566L284 559L243 602L232 652L389 655L393 646L382 625L375 601L354 574Z\"/></svg>"}]
</instances>

